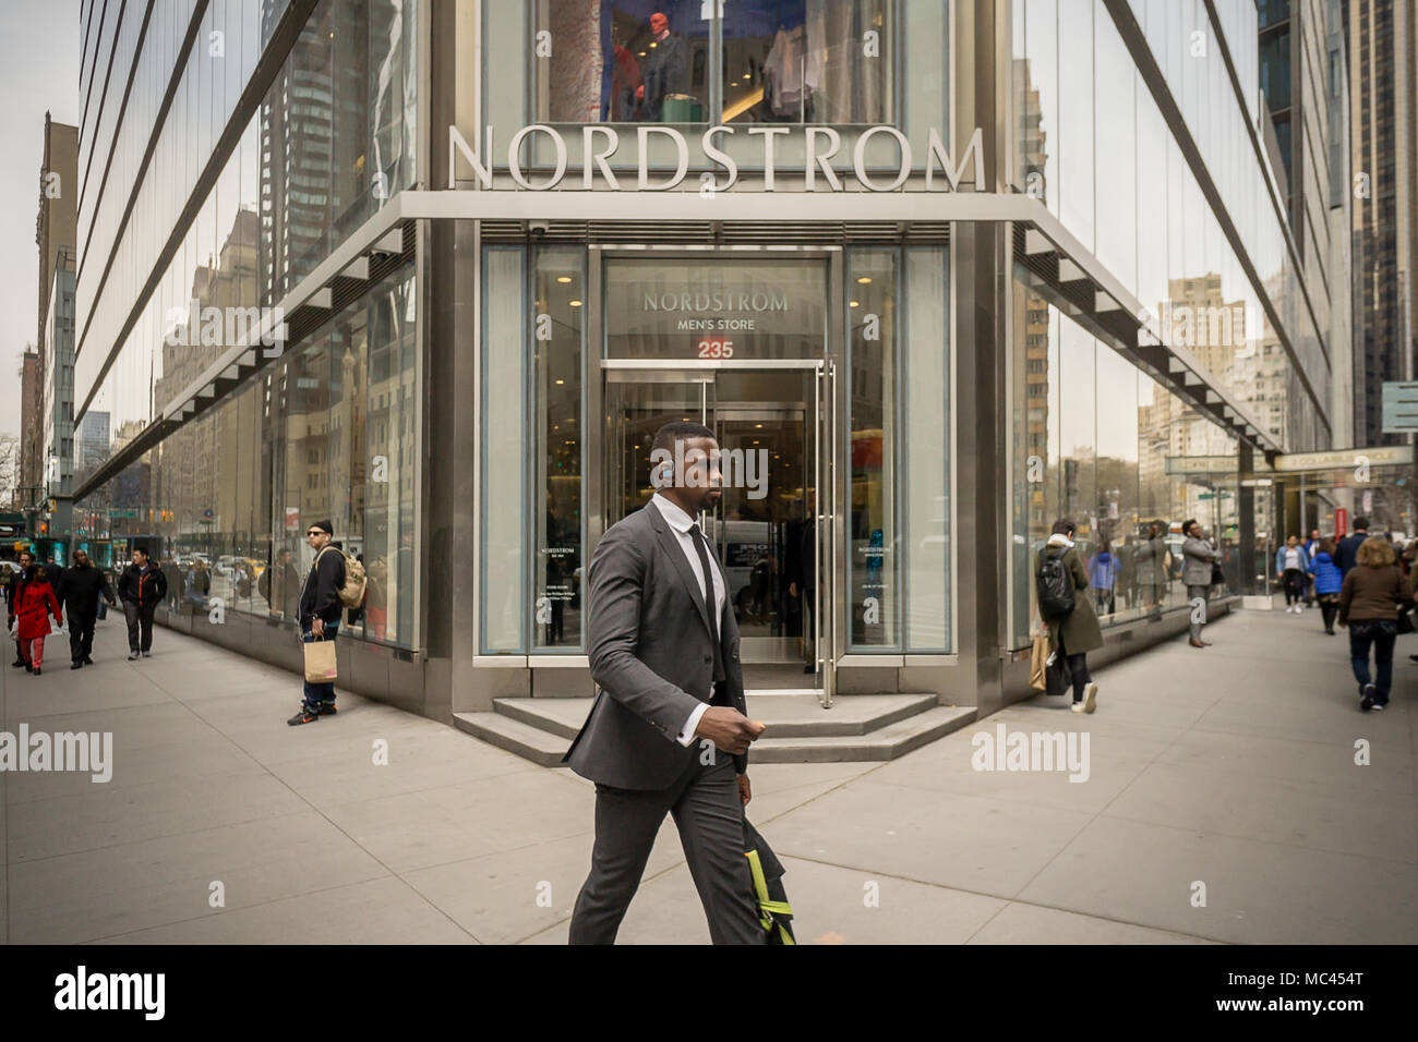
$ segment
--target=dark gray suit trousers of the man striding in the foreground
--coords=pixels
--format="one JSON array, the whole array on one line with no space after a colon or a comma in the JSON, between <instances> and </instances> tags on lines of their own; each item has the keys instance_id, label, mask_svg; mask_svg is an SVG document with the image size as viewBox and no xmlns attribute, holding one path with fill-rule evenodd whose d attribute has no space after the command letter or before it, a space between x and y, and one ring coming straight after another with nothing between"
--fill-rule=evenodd
<instances>
[{"instance_id":1,"label":"dark gray suit trousers of the man striding in the foreground","mask_svg":"<svg viewBox=\"0 0 1418 1042\"><path fill-rule=\"evenodd\" d=\"M596 785L596 846L591 872L571 913L571 944L615 941L666 811L679 829L713 943L767 943L743 856L743 804L733 757L715 750L715 761L706 766L700 763L698 744L695 750L685 773L669 788Z\"/></svg>"}]
</instances>

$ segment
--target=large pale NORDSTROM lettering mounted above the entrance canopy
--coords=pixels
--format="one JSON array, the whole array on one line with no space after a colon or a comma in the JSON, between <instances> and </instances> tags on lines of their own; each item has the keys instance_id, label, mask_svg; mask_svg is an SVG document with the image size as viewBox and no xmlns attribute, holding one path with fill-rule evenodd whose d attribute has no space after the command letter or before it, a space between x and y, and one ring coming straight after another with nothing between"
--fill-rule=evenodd
<instances>
[{"instance_id":1,"label":"large pale NORDSTROM lettering mounted above the entrance canopy","mask_svg":"<svg viewBox=\"0 0 1418 1042\"><path fill-rule=\"evenodd\" d=\"M703 135L700 135L699 147L703 150L705 157L718 169L715 173L706 172L703 174L703 179L706 179L703 181L703 187L710 189L712 191L727 191L739 180L737 160L719 147L723 138L735 136L739 129L740 128L735 126L710 126L703 132ZM760 166L763 169L764 191L774 190L774 167L777 159L774 155L776 142L778 138L788 136L794 129L795 128L788 126L746 128L749 138L760 139ZM818 177L821 177L831 191L842 191L842 177L831 166L831 160L842 150L842 135L831 126L804 126L803 132L805 150L803 173L805 190L813 191L817 187ZM533 184L522 167L522 143L533 139L535 136L546 139L554 157L550 176L545 177L539 184ZM649 172L652 136L668 142L675 155L675 172L672 174L657 172L658 180L655 181L651 181ZM896 170L882 172L871 170L868 167L866 149L876 138L889 138L896 142L899 155L899 164ZM579 159L583 190L588 191L594 189L596 180L600 177L607 187L617 191L621 189L632 189L635 191L665 191L678 187L685 180L685 174L689 173L689 142L685 139L685 135L674 126L635 128L638 164L634 184L628 183L628 173L623 172L623 176L627 179L627 183L623 184L615 172L611 170L608 160L620 150L620 146L621 135L614 126L593 123L581 128ZM554 126L547 126L546 123L523 126L512 135L512 139L508 142L508 162L505 169L518 187L529 191L547 191L550 189L556 189L566 177L567 167L571 162L570 149L571 146L567 145L566 136ZM489 126L485 129L482 147L476 150L468 145L468 140L458 132L457 126L448 128L450 189L455 187L458 183L459 156L462 156L464 163L472 169L479 187L492 189L492 174L495 170L493 160L498 156L493 128ZM926 140L925 155L926 191L936 189L940 180L944 181L943 190L959 191L967 164L973 166L970 180L974 184L974 190L984 191L983 135L980 128L976 128L974 133L970 135L970 143L966 146L966 152L960 157L959 164L950 157L950 153L946 152L940 133L932 128ZM852 145L852 173L856 176L856 181L864 189L869 191L895 191L906 183L912 170L915 170L915 162L910 142L906 140L906 135L895 126L868 126L858 133L856 142Z\"/></svg>"}]
</instances>

